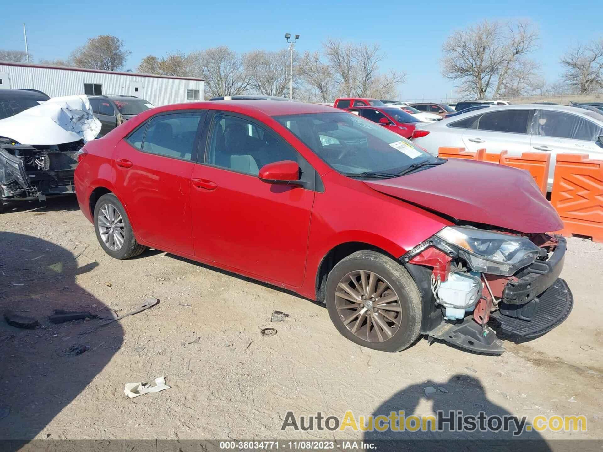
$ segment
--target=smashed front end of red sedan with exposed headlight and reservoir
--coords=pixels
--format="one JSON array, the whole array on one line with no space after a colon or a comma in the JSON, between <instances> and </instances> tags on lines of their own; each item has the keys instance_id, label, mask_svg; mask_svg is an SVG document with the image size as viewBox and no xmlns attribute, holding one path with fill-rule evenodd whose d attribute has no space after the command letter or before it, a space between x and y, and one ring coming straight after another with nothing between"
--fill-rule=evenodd
<instances>
[{"instance_id":1,"label":"smashed front end of red sedan with exposed headlight and reservoir","mask_svg":"<svg viewBox=\"0 0 603 452\"><path fill-rule=\"evenodd\" d=\"M564 280L566 240L473 226L449 226L400 259L423 295L421 331L482 353L505 348L488 326L537 337L561 324L573 297Z\"/></svg>"}]
</instances>

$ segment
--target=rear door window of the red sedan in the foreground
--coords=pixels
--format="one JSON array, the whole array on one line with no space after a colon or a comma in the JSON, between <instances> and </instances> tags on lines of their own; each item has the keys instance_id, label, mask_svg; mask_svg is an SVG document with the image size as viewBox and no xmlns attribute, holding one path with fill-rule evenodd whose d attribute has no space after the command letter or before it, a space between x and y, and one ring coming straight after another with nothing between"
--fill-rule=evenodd
<instances>
[{"instance_id":1,"label":"rear door window of the red sedan in the foreground","mask_svg":"<svg viewBox=\"0 0 603 452\"><path fill-rule=\"evenodd\" d=\"M174 113L151 118L140 149L152 154L191 160L197 128L203 115ZM128 137L128 141L132 142L132 136L134 134Z\"/></svg>"}]
</instances>

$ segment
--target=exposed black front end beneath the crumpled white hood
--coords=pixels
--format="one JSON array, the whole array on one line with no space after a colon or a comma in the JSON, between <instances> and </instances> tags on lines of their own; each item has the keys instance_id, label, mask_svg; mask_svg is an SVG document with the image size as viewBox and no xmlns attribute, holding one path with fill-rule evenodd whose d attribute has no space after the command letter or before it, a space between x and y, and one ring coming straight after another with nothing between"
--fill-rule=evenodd
<instances>
[{"instance_id":1,"label":"exposed black front end beneath the crumpled white hood","mask_svg":"<svg viewBox=\"0 0 603 452\"><path fill-rule=\"evenodd\" d=\"M0 199L25 201L75 193L74 171L83 142L21 145L0 138Z\"/></svg>"}]
</instances>

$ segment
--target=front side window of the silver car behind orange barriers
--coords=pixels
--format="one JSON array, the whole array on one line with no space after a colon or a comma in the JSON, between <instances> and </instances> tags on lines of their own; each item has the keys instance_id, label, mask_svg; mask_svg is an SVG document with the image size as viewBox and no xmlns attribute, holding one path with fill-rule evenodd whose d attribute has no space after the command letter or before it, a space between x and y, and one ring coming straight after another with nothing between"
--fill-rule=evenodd
<instances>
[{"instance_id":1,"label":"front side window of the silver car behind orange barriers","mask_svg":"<svg viewBox=\"0 0 603 452\"><path fill-rule=\"evenodd\" d=\"M532 121L532 134L572 140L595 141L603 134L603 128L581 116L540 110Z\"/></svg>"}]
</instances>

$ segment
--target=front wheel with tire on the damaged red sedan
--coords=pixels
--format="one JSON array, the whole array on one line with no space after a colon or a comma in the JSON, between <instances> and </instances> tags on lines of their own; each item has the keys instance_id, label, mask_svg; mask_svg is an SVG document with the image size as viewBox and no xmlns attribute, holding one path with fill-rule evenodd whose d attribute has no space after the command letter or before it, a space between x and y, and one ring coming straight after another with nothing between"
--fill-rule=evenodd
<instances>
[{"instance_id":1,"label":"front wheel with tire on the damaged red sedan","mask_svg":"<svg viewBox=\"0 0 603 452\"><path fill-rule=\"evenodd\" d=\"M373 297L367 298L367 293ZM401 351L420 334L423 313L417 284L400 263L384 254L357 251L338 262L327 277L325 296L339 333L362 347Z\"/></svg>"}]
</instances>

